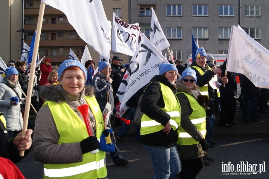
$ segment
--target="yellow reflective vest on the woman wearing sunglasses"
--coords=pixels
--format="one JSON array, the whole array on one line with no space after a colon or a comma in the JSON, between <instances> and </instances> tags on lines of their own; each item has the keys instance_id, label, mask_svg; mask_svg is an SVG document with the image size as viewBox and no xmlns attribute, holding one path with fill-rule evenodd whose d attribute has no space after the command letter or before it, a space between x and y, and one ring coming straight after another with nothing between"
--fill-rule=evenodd
<instances>
[{"instance_id":1,"label":"yellow reflective vest on the woman wearing sunglasses","mask_svg":"<svg viewBox=\"0 0 269 179\"><path fill-rule=\"evenodd\" d=\"M205 138L206 134L206 109L202 107L197 100L190 94L184 93L187 98L189 99L190 107L192 108L192 114L189 115L189 119L191 120L192 124L197 127L197 129L201 132L201 134ZM178 93L177 93L178 94ZM195 141L191 135L189 135L181 126L179 126L178 130L178 141L177 144L180 145L192 145L197 144L199 142Z\"/></svg>"}]
</instances>

